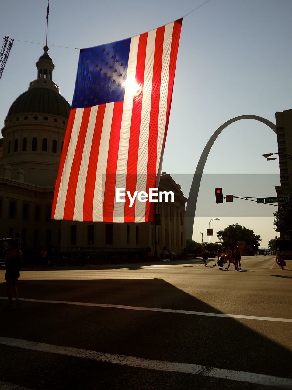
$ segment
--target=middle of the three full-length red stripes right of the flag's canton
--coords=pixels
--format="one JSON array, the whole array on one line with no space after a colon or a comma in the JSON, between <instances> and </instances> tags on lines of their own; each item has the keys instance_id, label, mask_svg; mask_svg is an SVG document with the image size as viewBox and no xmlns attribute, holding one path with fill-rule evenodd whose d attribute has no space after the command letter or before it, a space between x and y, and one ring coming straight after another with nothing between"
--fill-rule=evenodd
<instances>
[{"instance_id":1,"label":"middle of the three full-length red stripes right of the flag's canton","mask_svg":"<svg viewBox=\"0 0 292 390\"><path fill-rule=\"evenodd\" d=\"M157 28L156 38L155 38L150 126L149 126L149 138L148 138L148 160L147 160L146 192L148 193L148 195L149 195L149 188L155 187L155 183L156 183L158 116L159 116L164 31L165 31L165 26ZM145 222L153 221L154 206L155 203L150 203L149 201L146 202Z\"/></svg>"}]
</instances>

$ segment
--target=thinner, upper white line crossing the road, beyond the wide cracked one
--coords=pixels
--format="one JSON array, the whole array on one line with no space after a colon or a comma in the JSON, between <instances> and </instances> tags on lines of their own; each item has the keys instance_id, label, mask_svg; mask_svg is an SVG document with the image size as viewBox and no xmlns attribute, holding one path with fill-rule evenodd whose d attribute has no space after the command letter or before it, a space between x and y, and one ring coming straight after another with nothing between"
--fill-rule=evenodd
<instances>
[{"instance_id":1,"label":"thinner, upper white line crossing the road, beyond the wide cracked one","mask_svg":"<svg viewBox=\"0 0 292 390\"><path fill-rule=\"evenodd\" d=\"M7 298L4 297L4 296L0 296L0 299L5 299L6 300ZM148 312L191 314L193 316L227 317L227 318L253 319L253 320L260 320L260 321L276 321L276 322L292 323L292 319L290 319L290 318L241 316L239 314L193 312L193 311L190 311L190 310L163 309L163 308L156 308L156 307L110 305L108 303L89 303L89 302L74 302L74 301L50 301L50 300L33 299L33 298L20 298L20 301L37 302L37 303L58 303L58 304L62 304L62 305L110 307L110 308L116 308L116 309L142 310L142 311L148 311Z\"/></svg>"}]
</instances>

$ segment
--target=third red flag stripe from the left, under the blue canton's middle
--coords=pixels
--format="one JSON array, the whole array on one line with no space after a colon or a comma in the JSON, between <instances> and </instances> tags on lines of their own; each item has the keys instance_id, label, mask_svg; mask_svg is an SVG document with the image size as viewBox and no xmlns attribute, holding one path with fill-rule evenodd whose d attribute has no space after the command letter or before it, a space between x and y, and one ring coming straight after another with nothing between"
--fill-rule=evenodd
<instances>
[{"instance_id":1,"label":"third red flag stripe from the left, under the blue canton's middle","mask_svg":"<svg viewBox=\"0 0 292 390\"><path fill-rule=\"evenodd\" d=\"M104 112L106 104L102 104L97 109L95 128L92 137L90 156L88 161L86 183L84 189L83 202L83 221L93 220L93 197L95 190L95 179L97 170L97 160L99 157L100 138L102 133L102 125L104 122Z\"/></svg>"}]
</instances>

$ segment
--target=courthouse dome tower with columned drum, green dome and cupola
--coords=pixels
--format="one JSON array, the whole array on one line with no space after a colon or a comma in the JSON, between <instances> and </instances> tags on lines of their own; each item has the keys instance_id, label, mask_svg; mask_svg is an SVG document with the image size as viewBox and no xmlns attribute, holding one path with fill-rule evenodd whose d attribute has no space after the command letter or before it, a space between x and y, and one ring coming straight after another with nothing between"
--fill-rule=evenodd
<instances>
[{"instance_id":1,"label":"courthouse dome tower with columned drum, green dome and cupola","mask_svg":"<svg viewBox=\"0 0 292 390\"><path fill-rule=\"evenodd\" d=\"M58 171L70 105L53 80L55 65L44 46L37 79L12 103L4 128L0 175L52 187Z\"/></svg>"}]
</instances>

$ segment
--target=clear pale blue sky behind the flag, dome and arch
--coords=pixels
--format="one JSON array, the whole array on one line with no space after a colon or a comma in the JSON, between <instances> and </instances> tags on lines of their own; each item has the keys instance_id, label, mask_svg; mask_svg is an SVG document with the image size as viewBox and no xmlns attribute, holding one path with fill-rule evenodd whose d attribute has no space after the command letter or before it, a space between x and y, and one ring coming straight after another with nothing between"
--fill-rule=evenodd
<instances>
[{"instance_id":1,"label":"clear pale blue sky behind the flag, dome and arch","mask_svg":"<svg viewBox=\"0 0 292 390\"><path fill-rule=\"evenodd\" d=\"M50 0L49 55L61 94L71 104L79 51L53 45L84 48L117 41L176 20L202 3ZM0 4L0 38L15 39L0 80L0 122L37 77L35 62L43 53L46 9L46 0ZM292 108L291 15L291 0L210 0L183 19L163 171L181 181L186 197L190 174L219 126L237 115L259 115L275 122L276 111ZM254 229L267 246L276 235L276 207L245 200L216 205L214 195L220 186L224 195L275 196L279 165L277 160L268 163L262 157L265 152L277 152L276 135L257 121L238 121L217 138L204 171L207 182L212 181L202 181L193 239L201 241L197 232L206 234L209 220L220 218L212 222L215 232L238 222ZM254 174L262 175L258 179ZM267 211L261 214L256 207Z\"/></svg>"}]
</instances>

